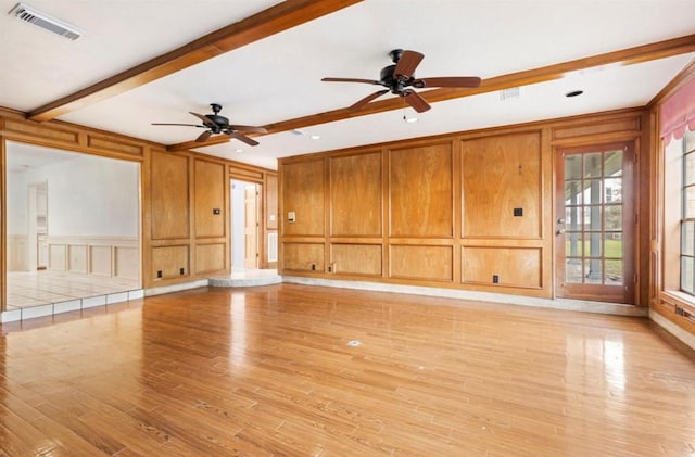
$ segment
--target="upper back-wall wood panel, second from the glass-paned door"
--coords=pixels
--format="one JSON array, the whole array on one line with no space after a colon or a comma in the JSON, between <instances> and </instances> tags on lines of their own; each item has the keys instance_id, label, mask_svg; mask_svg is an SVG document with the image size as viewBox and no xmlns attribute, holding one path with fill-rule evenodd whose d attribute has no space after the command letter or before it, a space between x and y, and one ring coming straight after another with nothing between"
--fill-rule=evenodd
<instances>
[{"instance_id":1,"label":"upper back-wall wood panel, second from the glass-paned door","mask_svg":"<svg viewBox=\"0 0 695 457\"><path fill-rule=\"evenodd\" d=\"M391 237L453 237L451 142L389 151Z\"/></svg>"}]
</instances>

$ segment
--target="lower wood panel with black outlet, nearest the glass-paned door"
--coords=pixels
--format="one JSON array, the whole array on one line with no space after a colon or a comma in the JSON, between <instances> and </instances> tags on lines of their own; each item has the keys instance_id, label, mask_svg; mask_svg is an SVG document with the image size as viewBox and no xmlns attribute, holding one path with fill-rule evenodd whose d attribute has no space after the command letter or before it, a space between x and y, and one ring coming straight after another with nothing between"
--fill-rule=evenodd
<instances>
[{"instance_id":1,"label":"lower wood panel with black outlet, nearest the glass-paned door","mask_svg":"<svg viewBox=\"0 0 695 457\"><path fill-rule=\"evenodd\" d=\"M462 282L519 288L542 288L542 250L540 247L463 249Z\"/></svg>"}]
</instances>

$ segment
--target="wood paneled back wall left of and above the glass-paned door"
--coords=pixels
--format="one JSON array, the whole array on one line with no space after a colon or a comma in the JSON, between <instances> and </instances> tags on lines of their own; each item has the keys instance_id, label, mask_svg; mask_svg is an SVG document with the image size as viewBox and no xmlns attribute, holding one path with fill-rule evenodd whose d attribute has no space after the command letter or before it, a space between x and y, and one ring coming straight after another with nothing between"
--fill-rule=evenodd
<instances>
[{"instance_id":1,"label":"wood paneled back wall left of and above the glass-paned door","mask_svg":"<svg viewBox=\"0 0 695 457\"><path fill-rule=\"evenodd\" d=\"M644 116L626 110L281 158L280 271L554 297L556 148L627 140L639 151Z\"/></svg>"}]
</instances>

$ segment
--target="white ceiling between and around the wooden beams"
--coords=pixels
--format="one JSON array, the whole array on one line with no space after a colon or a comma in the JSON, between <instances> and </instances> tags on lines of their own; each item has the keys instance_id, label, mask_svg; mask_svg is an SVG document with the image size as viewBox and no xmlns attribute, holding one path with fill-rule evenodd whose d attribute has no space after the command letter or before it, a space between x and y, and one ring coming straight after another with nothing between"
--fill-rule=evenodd
<instances>
[{"instance_id":1,"label":"white ceiling between and around the wooden beams","mask_svg":"<svg viewBox=\"0 0 695 457\"><path fill-rule=\"evenodd\" d=\"M16 1L0 0L0 106L30 112L278 2L25 3L85 30L68 41L7 14ZM395 48L425 54L417 77L485 79L694 35L694 17L693 0L366 0L58 118L174 144L202 130L150 124L195 124L188 112L207 114L213 102L230 123L260 126L346 107L376 88L320 79L378 79ZM642 106L694 58L574 72L506 101L489 92L437 102L415 124L403 122L408 107L198 151L276 168L282 156ZM584 93L565 97L574 89Z\"/></svg>"}]
</instances>

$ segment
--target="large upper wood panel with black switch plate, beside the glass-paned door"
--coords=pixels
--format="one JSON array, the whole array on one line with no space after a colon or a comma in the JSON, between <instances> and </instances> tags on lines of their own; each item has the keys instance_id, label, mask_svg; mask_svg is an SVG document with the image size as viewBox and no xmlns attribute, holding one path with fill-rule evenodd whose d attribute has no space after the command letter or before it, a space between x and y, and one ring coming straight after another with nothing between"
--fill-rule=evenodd
<instances>
[{"instance_id":1,"label":"large upper wood panel with black switch plate, beside the glass-paned door","mask_svg":"<svg viewBox=\"0 0 695 457\"><path fill-rule=\"evenodd\" d=\"M541 157L538 131L462 141L464 238L542 237Z\"/></svg>"}]
</instances>

